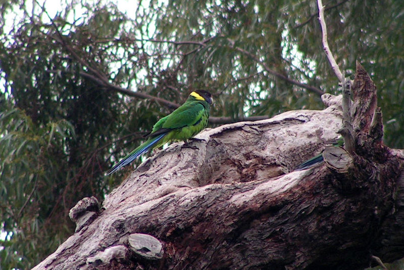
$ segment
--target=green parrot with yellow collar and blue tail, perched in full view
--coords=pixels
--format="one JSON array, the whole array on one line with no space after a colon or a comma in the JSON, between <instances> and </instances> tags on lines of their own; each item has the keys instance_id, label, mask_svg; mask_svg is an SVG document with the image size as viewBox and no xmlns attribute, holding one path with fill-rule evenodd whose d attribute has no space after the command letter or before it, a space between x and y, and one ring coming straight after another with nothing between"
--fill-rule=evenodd
<instances>
[{"instance_id":1,"label":"green parrot with yellow collar and blue tail, perched in full view","mask_svg":"<svg viewBox=\"0 0 404 270\"><path fill-rule=\"evenodd\" d=\"M121 161L115 164L107 174L111 174L128 165L143 153L172 141L184 141L195 136L208 125L209 110L213 102L212 95L205 90L196 90L171 114L161 118L147 141L138 146Z\"/></svg>"}]
</instances>

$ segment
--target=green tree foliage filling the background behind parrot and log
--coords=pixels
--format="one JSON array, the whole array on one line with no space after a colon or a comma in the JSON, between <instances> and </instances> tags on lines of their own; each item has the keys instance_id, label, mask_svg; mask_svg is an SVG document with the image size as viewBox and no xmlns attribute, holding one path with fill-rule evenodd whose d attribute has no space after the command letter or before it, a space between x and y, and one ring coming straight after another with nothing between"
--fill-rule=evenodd
<instances>
[{"instance_id":1,"label":"green tree foliage filling the background behind parrot and log","mask_svg":"<svg viewBox=\"0 0 404 270\"><path fill-rule=\"evenodd\" d=\"M54 251L73 232L69 209L85 196L102 200L131 168L104 172L172 110L105 81L177 104L207 88L216 94L211 115L235 120L322 108L318 94L268 68L338 93L315 1L149 1L126 10L76 1L61 4L53 23L30 3L0 1L2 268L28 268ZM402 148L404 3L324 4L337 63L352 75L360 60L372 74L385 142Z\"/></svg>"}]
</instances>

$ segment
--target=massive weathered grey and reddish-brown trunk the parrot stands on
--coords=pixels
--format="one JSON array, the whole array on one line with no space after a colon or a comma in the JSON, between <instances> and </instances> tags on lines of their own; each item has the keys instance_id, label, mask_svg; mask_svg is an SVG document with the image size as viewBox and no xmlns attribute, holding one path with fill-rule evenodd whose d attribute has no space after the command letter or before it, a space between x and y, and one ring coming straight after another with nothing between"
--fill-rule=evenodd
<instances>
[{"instance_id":1,"label":"massive weathered grey and reddish-brown trunk the parrot stands on","mask_svg":"<svg viewBox=\"0 0 404 270\"><path fill-rule=\"evenodd\" d=\"M360 65L352 90L346 170L289 172L338 137L340 97L325 96L323 111L206 130L193 148L147 159L102 211L91 199L72 210L77 232L35 269L355 269L403 257L404 154L381 142Z\"/></svg>"}]
</instances>

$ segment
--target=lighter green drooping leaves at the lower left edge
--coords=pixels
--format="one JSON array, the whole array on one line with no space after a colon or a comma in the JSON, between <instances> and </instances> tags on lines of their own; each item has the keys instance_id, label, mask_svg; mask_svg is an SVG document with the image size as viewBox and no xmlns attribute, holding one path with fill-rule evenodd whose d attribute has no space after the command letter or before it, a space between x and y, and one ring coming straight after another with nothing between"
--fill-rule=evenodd
<instances>
[{"instance_id":1,"label":"lighter green drooping leaves at the lower left edge","mask_svg":"<svg viewBox=\"0 0 404 270\"><path fill-rule=\"evenodd\" d=\"M55 239L72 229L72 224L65 228L66 222L51 219L51 213L58 193L63 191L55 185L55 179L64 177L65 181L64 174L69 170L67 164L62 165L68 159L63 147L66 140L75 138L75 133L72 124L64 119L38 128L18 108L3 111L0 119L0 127L5 131L0 138L0 209L2 231L10 236L2 243L2 267L25 268L33 266L26 261L26 251L32 256L32 250L35 250L35 257L30 260L39 260L41 254L51 252L60 244L60 240ZM38 218L40 216L55 222L55 230L42 231L40 227L44 226L45 220ZM48 244L43 245L42 241Z\"/></svg>"}]
</instances>

